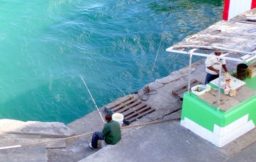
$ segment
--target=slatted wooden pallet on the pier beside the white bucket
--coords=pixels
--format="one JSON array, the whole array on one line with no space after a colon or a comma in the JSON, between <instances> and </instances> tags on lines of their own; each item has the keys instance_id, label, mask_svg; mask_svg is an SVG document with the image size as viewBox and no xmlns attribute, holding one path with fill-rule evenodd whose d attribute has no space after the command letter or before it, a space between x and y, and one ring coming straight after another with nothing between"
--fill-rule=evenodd
<instances>
[{"instance_id":1,"label":"slatted wooden pallet on the pier beside the white bucket","mask_svg":"<svg viewBox=\"0 0 256 162\"><path fill-rule=\"evenodd\" d=\"M121 113L124 115L125 124L131 124L131 122L140 119L144 115L154 112L154 108L151 108L146 103L143 103L139 98L129 97L115 101L111 106L108 105L104 108L109 114Z\"/></svg>"}]
</instances>

